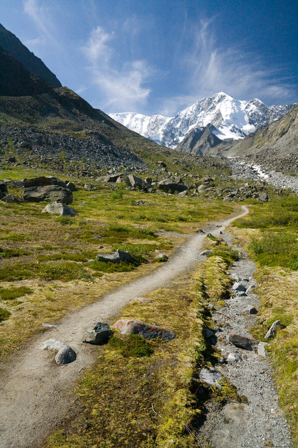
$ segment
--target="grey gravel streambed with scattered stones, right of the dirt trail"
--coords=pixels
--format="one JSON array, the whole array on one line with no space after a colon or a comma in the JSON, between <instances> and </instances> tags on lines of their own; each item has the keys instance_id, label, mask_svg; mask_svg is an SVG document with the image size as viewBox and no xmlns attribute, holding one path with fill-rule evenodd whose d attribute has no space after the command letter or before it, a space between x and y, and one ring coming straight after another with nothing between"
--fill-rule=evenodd
<instances>
[{"instance_id":1,"label":"grey gravel streambed with scattered stones, right of the dirt trail","mask_svg":"<svg viewBox=\"0 0 298 448\"><path fill-rule=\"evenodd\" d=\"M230 235L224 232L224 239L230 242ZM241 252L241 249L234 247ZM245 287L256 285L253 274L255 264L242 253L239 261L230 269L242 279ZM272 370L267 358L254 351L242 350L227 342L229 333L252 337L249 327L256 322L256 316L245 315L247 305L258 308L259 301L255 294L236 299L233 296L225 301L225 308L218 308L234 321L222 315L213 314L213 320L222 324L222 332L217 333L216 346L222 350L224 358L229 353L237 353L242 361L216 365L234 386L240 395L245 395L249 404L231 403L222 409L216 403L207 403L207 419L200 429L199 440L205 446L214 448L290 448L291 439L284 413L278 406L277 395L272 381ZM209 445L208 445L209 444Z\"/></svg>"}]
</instances>

